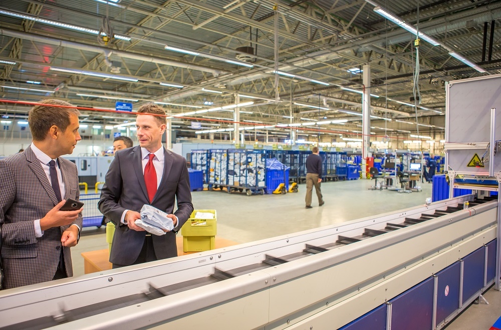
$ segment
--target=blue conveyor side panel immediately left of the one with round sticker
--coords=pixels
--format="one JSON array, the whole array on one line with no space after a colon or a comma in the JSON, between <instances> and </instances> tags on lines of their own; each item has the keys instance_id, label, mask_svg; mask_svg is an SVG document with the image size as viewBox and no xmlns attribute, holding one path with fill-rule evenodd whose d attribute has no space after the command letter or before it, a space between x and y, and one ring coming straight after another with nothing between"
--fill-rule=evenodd
<instances>
[{"instance_id":1,"label":"blue conveyor side panel immediately left of the one with round sticker","mask_svg":"<svg viewBox=\"0 0 501 330\"><path fill-rule=\"evenodd\" d=\"M431 329L433 286L430 277L390 300L392 329Z\"/></svg>"}]
</instances>

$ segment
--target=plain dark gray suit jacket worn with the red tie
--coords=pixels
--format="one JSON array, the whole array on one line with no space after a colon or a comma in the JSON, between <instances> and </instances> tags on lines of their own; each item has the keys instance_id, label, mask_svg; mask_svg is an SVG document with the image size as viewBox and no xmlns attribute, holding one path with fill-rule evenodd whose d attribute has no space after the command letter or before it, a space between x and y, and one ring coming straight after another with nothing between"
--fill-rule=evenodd
<instances>
[{"instance_id":1,"label":"plain dark gray suit jacket worn with the red tie","mask_svg":"<svg viewBox=\"0 0 501 330\"><path fill-rule=\"evenodd\" d=\"M126 209L139 212L144 204L150 204L164 212L172 213L177 198L179 228L193 212L186 159L164 148L164 170L158 190L150 203L141 164L141 148L135 146L115 153L115 159L106 173L106 183L101 190L99 210L116 224L111 245L110 262L132 264L143 247L146 231L129 230L120 222ZM176 232L152 235L155 255L158 259L177 256Z\"/></svg>"}]
</instances>

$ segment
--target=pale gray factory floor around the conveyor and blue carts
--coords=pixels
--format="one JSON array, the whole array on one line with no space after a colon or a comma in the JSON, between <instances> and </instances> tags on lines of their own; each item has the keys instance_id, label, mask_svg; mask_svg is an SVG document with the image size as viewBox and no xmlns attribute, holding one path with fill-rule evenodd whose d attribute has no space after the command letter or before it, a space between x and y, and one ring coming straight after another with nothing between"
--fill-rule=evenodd
<instances>
[{"instance_id":1,"label":"pale gray factory floor around the conveyor and blue carts","mask_svg":"<svg viewBox=\"0 0 501 330\"><path fill-rule=\"evenodd\" d=\"M373 216L425 203L431 197L431 183L420 183L422 191L399 193L369 190L373 180L323 182L325 204L318 206L313 192L313 208L305 208L306 185L298 193L246 196L226 191L192 192L195 209L217 211L217 236L246 243ZM72 248L75 276L84 273L81 252L107 248L104 227L84 228L77 246ZM447 330L488 329L501 315L501 293L493 288L486 292L489 304L471 305L446 328Z\"/></svg>"}]
</instances>

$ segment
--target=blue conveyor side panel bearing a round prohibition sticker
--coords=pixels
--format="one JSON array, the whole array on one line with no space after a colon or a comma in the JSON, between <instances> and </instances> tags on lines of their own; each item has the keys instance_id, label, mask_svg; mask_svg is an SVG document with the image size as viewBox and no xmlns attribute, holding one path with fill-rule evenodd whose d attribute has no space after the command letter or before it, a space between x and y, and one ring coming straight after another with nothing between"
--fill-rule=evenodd
<instances>
[{"instance_id":1,"label":"blue conveyor side panel bearing a round prohibition sticker","mask_svg":"<svg viewBox=\"0 0 501 330\"><path fill-rule=\"evenodd\" d=\"M459 277L461 265L459 261L437 273L437 313L436 324L440 324L459 308Z\"/></svg>"}]
</instances>

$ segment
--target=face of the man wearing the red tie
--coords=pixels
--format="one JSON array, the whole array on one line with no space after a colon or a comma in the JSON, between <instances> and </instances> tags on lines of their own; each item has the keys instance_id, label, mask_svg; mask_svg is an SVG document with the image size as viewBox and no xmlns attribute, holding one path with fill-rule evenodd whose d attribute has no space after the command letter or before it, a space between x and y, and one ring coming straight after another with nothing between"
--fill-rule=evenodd
<instances>
[{"instance_id":1,"label":"face of the man wearing the red tie","mask_svg":"<svg viewBox=\"0 0 501 330\"><path fill-rule=\"evenodd\" d=\"M160 124L155 116L138 114L136 118L136 134L139 145L150 152L155 152L162 146L162 135L165 124Z\"/></svg>"}]
</instances>

